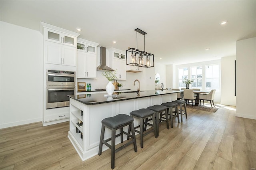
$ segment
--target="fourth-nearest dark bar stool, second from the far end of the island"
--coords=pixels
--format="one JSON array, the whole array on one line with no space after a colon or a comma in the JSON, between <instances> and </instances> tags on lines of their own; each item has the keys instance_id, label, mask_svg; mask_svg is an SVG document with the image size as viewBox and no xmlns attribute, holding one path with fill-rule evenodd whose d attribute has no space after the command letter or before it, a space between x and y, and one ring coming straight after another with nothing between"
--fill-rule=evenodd
<instances>
[{"instance_id":1,"label":"fourth-nearest dark bar stool, second from the far end of the island","mask_svg":"<svg viewBox=\"0 0 256 170\"><path fill-rule=\"evenodd\" d=\"M180 118L179 118L179 111L178 111L178 103L175 102L166 102L166 103L162 103L161 105L164 105L166 107L168 107L167 112L168 115L171 119L171 128L173 128L173 118L177 117L178 118L178 123L180 123ZM175 111L173 111L173 108L175 108ZM175 113L175 115L173 115L172 113ZM162 113L160 115L160 122L162 121L162 118L166 119L165 117L162 117Z\"/></svg>"}]
</instances>

